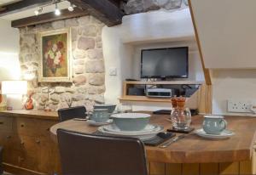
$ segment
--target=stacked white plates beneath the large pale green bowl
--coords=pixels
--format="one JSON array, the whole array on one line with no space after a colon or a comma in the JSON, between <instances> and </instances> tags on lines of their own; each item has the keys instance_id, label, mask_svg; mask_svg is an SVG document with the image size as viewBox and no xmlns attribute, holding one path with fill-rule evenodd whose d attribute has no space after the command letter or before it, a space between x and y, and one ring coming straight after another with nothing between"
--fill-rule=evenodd
<instances>
[{"instance_id":1,"label":"stacked white plates beneath the large pale green bowl","mask_svg":"<svg viewBox=\"0 0 256 175\"><path fill-rule=\"evenodd\" d=\"M108 125L108 126L99 127L98 131L102 132L102 133L107 133L110 135L115 135L115 136L140 138L142 140L154 138L156 134L164 131L164 127L160 127L158 125L149 125L149 127L152 128L150 131L143 130L143 131L137 131L137 132L134 132L134 131L127 132L127 131L120 131L117 127L115 127L112 124L112 125ZM113 128L116 128L116 129L113 129Z\"/></svg>"}]
</instances>

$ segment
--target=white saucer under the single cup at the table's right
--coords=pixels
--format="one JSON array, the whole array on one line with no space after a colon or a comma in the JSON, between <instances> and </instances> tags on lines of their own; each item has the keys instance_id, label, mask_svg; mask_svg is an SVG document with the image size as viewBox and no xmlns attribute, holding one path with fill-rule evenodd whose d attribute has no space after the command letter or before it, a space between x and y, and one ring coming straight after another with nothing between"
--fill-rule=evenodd
<instances>
[{"instance_id":1,"label":"white saucer under the single cup at the table's right","mask_svg":"<svg viewBox=\"0 0 256 175\"><path fill-rule=\"evenodd\" d=\"M195 130L195 134L198 136L201 136L202 138L211 138L211 139L224 139L224 138L230 138L231 136L235 135L235 133L230 130L224 130L219 135L208 134L202 128Z\"/></svg>"}]
</instances>

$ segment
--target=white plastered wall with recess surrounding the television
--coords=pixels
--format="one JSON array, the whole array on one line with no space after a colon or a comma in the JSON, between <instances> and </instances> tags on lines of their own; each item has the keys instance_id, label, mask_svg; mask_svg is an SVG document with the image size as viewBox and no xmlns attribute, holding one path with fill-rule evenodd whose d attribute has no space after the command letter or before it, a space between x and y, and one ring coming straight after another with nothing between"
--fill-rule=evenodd
<instances>
[{"instance_id":1,"label":"white plastered wall with recess surrounding the television","mask_svg":"<svg viewBox=\"0 0 256 175\"><path fill-rule=\"evenodd\" d=\"M189 8L177 11L154 11L125 16L122 25L107 27L102 30L102 46L106 66L106 103L119 103L122 83L127 77L138 76L133 69L139 60L141 48L166 48L177 45L192 45L189 54L192 73L191 79L201 80L203 74L197 48L195 32ZM117 76L109 76L109 69L116 68ZM190 68L190 71L195 71ZM128 104L129 105L129 104ZM153 107L154 106L154 109ZM169 109L170 104L136 104L134 109L155 110Z\"/></svg>"}]
</instances>

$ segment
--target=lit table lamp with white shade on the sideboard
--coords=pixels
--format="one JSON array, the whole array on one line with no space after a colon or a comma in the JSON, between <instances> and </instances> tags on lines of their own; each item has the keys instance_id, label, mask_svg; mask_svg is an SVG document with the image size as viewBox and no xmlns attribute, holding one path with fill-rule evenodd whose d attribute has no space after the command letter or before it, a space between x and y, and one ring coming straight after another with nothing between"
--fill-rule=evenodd
<instances>
[{"instance_id":1,"label":"lit table lamp with white shade on the sideboard","mask_svg":"<svg viewBox=\"0 0 256 175\"><path fill-rule=\"evenodd\" d=\"M23 108L22 97L27 93L27 82L3 81L2 93L7 95L7 108L9 110L21 110Z\"/></svg>"}]
</instances>

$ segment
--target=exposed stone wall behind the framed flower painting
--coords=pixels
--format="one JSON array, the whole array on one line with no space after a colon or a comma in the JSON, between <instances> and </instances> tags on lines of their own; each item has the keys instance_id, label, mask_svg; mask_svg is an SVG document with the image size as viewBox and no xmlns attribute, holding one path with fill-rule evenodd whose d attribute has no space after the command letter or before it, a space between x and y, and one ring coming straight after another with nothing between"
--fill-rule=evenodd
<instances>
[{"instance_id":1,"label":"exposed stone wall behind the framed flower painting","mask_svg":"<svg viewBox=\"0 0 256 175\"><path fill-rule=\"evenodd\" d=\"M65 108L67 101L72 106L84 105L92 110L95 103L104 103L105 66L102 54L102 27L104 24L92 16L58 20L43 25L20 28L20 66L25 75L38 75L40 48L38 33L71 28L73 83L38 83L38 77L29 81L29 92L36 109ZM45 90L50 89L50 95ZM48 100L49 99L49 100Z\"/></svg>"}]
</instances>

